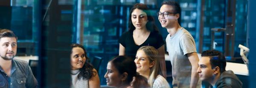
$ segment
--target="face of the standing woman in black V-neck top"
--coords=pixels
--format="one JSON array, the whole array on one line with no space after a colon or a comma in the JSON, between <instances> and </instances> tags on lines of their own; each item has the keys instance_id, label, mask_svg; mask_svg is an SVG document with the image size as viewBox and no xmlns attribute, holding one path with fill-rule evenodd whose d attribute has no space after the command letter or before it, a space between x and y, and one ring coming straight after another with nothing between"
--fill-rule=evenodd
<instances>
[{"instance_id":1,"label":"face of the standing woman in black V-neck top","mask_svg":"<svg viewBox=\"0 0 256 88\"><path fill-rule=\"evenodd\" d=\"M131 21L136 29L144 29L146 28L148 17L144 11L136 8L131 13Z\"/></svg>"}]
</instances>

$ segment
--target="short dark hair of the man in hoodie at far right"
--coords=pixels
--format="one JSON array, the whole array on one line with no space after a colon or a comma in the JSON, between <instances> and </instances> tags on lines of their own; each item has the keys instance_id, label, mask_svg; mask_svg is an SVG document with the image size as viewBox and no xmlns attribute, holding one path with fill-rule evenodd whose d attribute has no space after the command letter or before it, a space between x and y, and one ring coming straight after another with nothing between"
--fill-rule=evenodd
<instances>
[{"instance_id":1,"label":"short dark hair of the man in hoodie at far right","mask_svg":"<svg viewBox=\"0 0 256 88\"><path fill-rule=\"evenodd\" d=\"M203 51L201 56L210 58L210 64L212 66L212 69L218 66L220 68L221 73L226 71L226 58L218 50Z\"/></svg>"}]
</instances>

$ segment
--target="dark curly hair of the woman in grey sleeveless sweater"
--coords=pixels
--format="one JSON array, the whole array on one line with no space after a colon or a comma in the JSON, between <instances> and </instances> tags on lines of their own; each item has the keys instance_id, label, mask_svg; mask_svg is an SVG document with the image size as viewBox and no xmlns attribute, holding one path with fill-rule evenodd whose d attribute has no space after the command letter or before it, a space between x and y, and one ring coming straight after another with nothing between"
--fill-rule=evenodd
<instances>
[{"instance_id":1,"label":"dark curly hair of the woman in grey sleeveless sweater","mask_svg":"<svg viewBox=\"0 0 256 88\"><path fill-rule=\"evenodd\" d=\"M84 50L84 55L86 58L84 66L81 69L79 69L80 72L78 74L78 78L79 78L79 80L80 79L89 80L91 77L96 76L96 71L93 71L93 66L87 62L89 60L89 58L87 57L87 52L86 52L84 46L82 46L80 44L71 44L71 52L72 52L72 49L75 47L82 48Z\"/></svg>"}]
</instances>

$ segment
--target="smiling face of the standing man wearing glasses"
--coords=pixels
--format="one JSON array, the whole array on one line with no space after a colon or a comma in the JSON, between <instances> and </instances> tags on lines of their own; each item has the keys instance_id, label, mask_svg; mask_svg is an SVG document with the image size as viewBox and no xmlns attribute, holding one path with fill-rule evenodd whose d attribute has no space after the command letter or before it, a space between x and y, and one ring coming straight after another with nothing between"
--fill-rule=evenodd
<instances>
[{"instance_id":1,"label":"smiling face of the standing man wearing glasses","mask_svg":"<svg viewBox=\"0 0 256 88\"><path fill-rule=\"evenodd\" d=\"M175 22L178 22L177 19L179 18L179 14L170 14L170 13L176 13L174 11L175 9L173 8L172 5L161 6L159 11L160 13L163 13L163 12L169 13L167 17L164 17L163 15L158 17L158 20L161 23L162 27L171 28L171 27L174 27Z\"/></svg>"}]
</instances>

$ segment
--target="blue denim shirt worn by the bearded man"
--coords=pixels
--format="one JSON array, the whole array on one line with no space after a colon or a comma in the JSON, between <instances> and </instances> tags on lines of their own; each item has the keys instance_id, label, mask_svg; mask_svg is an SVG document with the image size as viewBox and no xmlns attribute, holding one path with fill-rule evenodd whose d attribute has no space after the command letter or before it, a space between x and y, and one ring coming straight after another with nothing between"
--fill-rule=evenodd
<instances>
[{"instance_id":1,"label":"blue denim shirt worn by the bearded man","mask_svg":"<svg viewBox=\"0 0 256 88\"><path fill-rule=\"evenodd\" d=\"M0 88L37 88L35 79L28 63L23 60L12 60L11 76L0 67Z\"/></svg>"}]
</instances>

